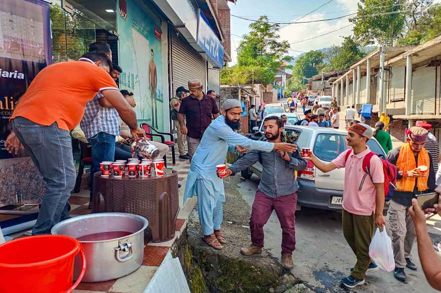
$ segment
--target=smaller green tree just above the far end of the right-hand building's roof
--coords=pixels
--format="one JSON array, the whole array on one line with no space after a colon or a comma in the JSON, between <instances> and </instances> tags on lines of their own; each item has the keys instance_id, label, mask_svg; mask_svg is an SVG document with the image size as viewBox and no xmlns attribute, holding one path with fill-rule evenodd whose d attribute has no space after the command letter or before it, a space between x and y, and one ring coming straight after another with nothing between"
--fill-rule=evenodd
<instances>
[{"instance_id":1,"label":"smaller green tree just above the far end of the right-hand building's roof","mask_svg":"<svg viewBox=\"0 0 441 293\"><path fill-rule=\"evenodd\" d=\"M331 58L325 71L348 69L366 55L352 37L344 37L344 39L338 54Z\"/></svg>"}]
</instances>

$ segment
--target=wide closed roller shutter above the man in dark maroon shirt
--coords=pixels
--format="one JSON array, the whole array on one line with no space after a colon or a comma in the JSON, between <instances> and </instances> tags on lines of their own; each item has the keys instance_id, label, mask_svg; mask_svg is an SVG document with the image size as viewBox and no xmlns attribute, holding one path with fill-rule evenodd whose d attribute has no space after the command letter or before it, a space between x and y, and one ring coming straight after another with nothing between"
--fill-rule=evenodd
<instances>
[{"instance_id":1,"label":"wide closed roller shutter above the man in dark maroon shirt","mask_svg":"<svg viewBox=\"0 0 441 293\"><path fill-rule=\"evenodd\" d=\"M173 34L172 37L173 92L179 86L188 87L188 80L200 79L205 89L205 59L193 47Z\"/></svg>"}]
</instances>

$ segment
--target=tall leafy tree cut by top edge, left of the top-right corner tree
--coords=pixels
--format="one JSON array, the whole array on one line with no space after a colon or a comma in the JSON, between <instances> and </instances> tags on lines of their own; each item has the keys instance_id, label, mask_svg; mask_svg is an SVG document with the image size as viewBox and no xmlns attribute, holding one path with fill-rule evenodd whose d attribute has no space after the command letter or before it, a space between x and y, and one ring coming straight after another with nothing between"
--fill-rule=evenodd
<instances>
[{"instance_id":1,"label":"tall leafy tree cut by top edge, left of the top-right corner tree","mask_svg":"<svg viewBox=\"0 0 441 293\"><path fill-rule=\"evenodd\" d=\"M360 0L357 16L349 19L355 24L353 34L363 45L393 46L404 28L405 0Z\"/></svg>"}]
</instances>

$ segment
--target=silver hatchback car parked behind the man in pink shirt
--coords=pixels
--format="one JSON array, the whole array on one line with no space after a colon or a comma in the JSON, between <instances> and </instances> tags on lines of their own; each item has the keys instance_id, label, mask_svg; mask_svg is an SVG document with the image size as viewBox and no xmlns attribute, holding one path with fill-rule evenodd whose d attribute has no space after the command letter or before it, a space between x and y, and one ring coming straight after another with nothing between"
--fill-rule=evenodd
<instances>
[{"instance_id":1,"label":"silver hatchback car parked behind the man in pink shirt","mask_svg":"<svg viewBox=\"0 0 441 293\"><path fill-rule=\"evenodd\" d=\"M349 146L346 143L347 131L309 126L286 126L285 131L292 131L298 135L297 145L310 147L317 158L330 162ZM256 138L256 134L253 136ZM371 151L380 157L386 158L383 148L372 138L367 142ZM257 162L248 170L242 172L242 177L250 178L252 173L259 178L262 176L262 165ZM345 169L335 169L323 173L308 161L305 171L298 172L299 183L298 200L300 206L325 210L341 210L343 204L343 187L345 183Z\"/></svg>"}]
</instances>

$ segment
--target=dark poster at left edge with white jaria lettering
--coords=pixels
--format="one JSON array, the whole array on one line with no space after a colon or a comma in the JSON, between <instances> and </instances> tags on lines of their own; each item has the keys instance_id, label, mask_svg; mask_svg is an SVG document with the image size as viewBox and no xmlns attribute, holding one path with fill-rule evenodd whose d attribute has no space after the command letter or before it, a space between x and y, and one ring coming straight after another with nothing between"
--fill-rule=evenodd
<instances>
[{"instance_id":1,"label":"dark poster at left edge with white jaria lettering","mask_svg":"<svg viewBox=\"0 0 441 293\"><path fill-rule=\"evenodd\" d=\"M0 1L0 159L11 158L4 141L15 103L50 63L49 4L40 0Z\"/></svg>"}]
</instances>

